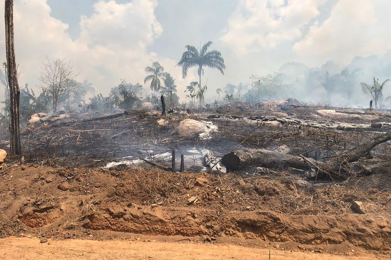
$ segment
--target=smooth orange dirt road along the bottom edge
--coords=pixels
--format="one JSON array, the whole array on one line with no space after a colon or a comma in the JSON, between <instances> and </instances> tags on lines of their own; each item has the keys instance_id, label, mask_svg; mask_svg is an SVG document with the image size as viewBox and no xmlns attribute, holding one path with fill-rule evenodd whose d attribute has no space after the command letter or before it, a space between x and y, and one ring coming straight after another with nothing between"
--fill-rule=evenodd
<instances>
[{"instance_id":1,"label":"smooth orange dirt road along the bottom edge","mask_svg":"<svg viewBox=\"0 0 391 260\"><path fill-rule=\"evenodd\" d=\"M126 240L51 240L8 237L0 240L0 257L3 260L58 260L58 259L159 259L159 260L222 260L269 259L267 248L246 248L232 244L192 244L174 242L141 242ZM271 259L386 259L370 253L354 252L349 256L329 255L301 251L271 250Z\"/></svg>"}]
</instances>

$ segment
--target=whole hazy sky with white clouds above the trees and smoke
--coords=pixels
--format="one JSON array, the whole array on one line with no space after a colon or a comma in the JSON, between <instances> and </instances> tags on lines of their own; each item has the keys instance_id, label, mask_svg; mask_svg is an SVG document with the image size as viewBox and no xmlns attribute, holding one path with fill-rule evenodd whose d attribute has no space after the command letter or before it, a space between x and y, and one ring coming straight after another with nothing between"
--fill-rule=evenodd
<instances>
[{"instance_id":1,"label":"whole hazy sky with white clouds above the trees and smoke","mask_svg":"<svg viewBox=\"0 0 391 260\"><path fill-rule=\"evenodd\" d=\"M48 55L68 59L80 81L107 94L120 78L143 83L143 69L158 60L183 97L197 73L182 79L175 65L185 45L210 40L227 66L224 76L205 69L203 81L214 93L286 62L312 67L333 60L343 67L355 56L384 55L391 49L390 13L387 0L15 0L16 62L20 85L38 87Z\"/></svg>"}]
</instances>

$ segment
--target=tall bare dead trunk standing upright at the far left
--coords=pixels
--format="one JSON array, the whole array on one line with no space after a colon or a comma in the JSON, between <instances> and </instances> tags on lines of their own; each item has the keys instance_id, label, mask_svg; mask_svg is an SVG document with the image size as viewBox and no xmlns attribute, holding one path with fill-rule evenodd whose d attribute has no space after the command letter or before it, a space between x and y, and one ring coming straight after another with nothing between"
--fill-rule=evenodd
<instances>
[{"instance_id":1,"label":"tall bare dead trunk standing upright at the far left","mask_svg":"<svg viewBox=\"0 0 391 260\"><path fill-rule=\"evenodd\" d=\"M22 155L19 134L20 89L15 61L13 5L13 0L5 0L5 52L9 83L9 147L11 155Z\"/></svg>"}]
</instances>

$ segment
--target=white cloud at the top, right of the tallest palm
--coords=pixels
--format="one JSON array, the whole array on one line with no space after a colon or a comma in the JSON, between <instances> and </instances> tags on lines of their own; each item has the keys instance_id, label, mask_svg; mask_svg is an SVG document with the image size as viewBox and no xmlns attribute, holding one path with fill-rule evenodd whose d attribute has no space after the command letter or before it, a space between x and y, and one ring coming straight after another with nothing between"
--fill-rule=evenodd
<instances>
[{"instance_id":1,"label":"white cloud at the top, right of the tallest palm","mask_svg":"<svg viewBox=\"0 0 391 260\"><path fill-rule=\"evenodd\" d=\"M326 0L239 0L221 41L238 55L275 48L302 36Z\"/></svg>"}]
</instances>

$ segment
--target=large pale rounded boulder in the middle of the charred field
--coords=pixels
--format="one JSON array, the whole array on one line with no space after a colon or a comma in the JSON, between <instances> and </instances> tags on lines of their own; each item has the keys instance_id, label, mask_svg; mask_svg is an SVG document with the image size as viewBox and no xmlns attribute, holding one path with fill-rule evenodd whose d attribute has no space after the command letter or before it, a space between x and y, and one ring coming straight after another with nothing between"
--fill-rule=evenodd
<instances>
[{"instance_id":1,"label":"large pale rounded boulder in the middle of the charred field","mask_svg":"<svg viewBox=\"0 0 391 260\"><path fill-rule=\"evenodd\" d=\"M213 125L212 122L197 121L190 118L180 121L176 127L176 132L178 132L179 137L199 134L201 139L208 139L210 138L210 132L216 131L217 126Z\"/></svg>"}]
</instances>

